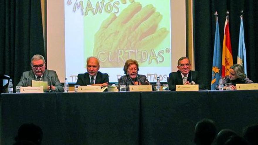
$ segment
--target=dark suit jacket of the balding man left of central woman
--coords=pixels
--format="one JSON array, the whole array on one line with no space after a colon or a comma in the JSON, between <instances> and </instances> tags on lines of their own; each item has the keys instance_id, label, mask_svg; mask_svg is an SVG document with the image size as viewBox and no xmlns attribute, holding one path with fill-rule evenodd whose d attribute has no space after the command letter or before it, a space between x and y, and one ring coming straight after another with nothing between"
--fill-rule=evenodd
<instances>
[{"instance_id":1,"label":"dark suit jacket of the balding man left of central woman","mask_svg":"<svg viewBox=\"0 0 258 145\"><path fill-rule=\"evenodd\" d=\"M87 72L84 74L78 74L77 78L78 79L75 85L86 86L91 84L89 74ZM108 74L101 73L99 71L96 76L95 84L106 83L106 82L109 83Z\"/></svg>"}]
</instances>

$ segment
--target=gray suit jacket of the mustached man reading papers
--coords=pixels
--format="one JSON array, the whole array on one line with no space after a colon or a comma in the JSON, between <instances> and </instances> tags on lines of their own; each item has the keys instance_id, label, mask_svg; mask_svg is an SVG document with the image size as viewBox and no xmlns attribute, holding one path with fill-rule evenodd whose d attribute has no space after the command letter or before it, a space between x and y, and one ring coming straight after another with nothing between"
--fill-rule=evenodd
<instances>
[{"instance_id":1,"label":"gray suit jacket of the mustached man reading papers","mask_svg":"<svg viewBox=\"0 0 258 145\"><path fill-rule=\"evenodd\" d=\"M33 74L33 71L32 70L25 71L25 72L23 72L23 74L21 76L21 80L17 84L17 86L23 86L23 87L32 86L32 80L37 81L37 78ZM46 69L42 76L41 81L47 81L48 86L50 86L50 84L55 86L56 92L64 91L63 85L60 83L55 71Z\"/></svg>"}]
</instances>

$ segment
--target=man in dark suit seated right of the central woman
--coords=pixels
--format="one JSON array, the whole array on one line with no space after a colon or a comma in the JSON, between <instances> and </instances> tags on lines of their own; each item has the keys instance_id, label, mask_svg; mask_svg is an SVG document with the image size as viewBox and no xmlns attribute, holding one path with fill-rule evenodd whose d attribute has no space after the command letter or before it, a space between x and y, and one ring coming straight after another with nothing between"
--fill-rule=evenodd
<instances>
[{"instance_id":1,"label":"man in dark suit seated right of the central woman","mask_svg":"<svg viewBox=\"0 0 258 145\"><path fill-rule=\"evenodd\" d=\"M169 74L169 90L175 91L176 85L195 85L199 84L201 79L197 71L191 71L191 62L187 57L181 57L177 62L176 72ZM199 88L202 88L199 84Z\"/></svg>"}]
</instances>

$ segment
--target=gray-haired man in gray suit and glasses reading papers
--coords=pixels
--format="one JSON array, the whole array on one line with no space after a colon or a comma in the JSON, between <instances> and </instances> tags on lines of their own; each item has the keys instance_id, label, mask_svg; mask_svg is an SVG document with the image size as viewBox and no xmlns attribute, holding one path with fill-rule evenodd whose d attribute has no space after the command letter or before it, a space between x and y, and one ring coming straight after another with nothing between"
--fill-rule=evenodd
<instances>
[{"instance_id":1,"label":"gray-haired man in gray suit and glasses reading papers","mask_svg":"<svg viewBox=\"0 0 258 145\"><path fill-rule=\"evenodd\" d=\"M63 92L64 88L60 83L55 71L46 69L45 59L42 55L36 54L31 58L30 71L23 72L20 82L17 86L32 86L32 80L35 81L47 81L47 89L54 90L56 92ZM51 87L50 87L51 86Z\"/></svg>"}]
</instances>

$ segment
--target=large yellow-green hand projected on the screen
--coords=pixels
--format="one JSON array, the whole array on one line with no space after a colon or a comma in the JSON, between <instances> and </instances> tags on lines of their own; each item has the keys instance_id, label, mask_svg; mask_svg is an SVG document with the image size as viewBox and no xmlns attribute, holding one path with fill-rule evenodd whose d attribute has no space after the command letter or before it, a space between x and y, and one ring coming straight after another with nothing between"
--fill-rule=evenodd
<instances>
[{"instance_id":1,"label":"large yellow-green hand projected on the screen","mask_svg":"<svg viewBox=\"0 0 258 145\"><path fill-rule=\"evenodd\" d=\"M157 30L162 15L149 4L142 8L133 2L119 16L111 13L94 36L93 55L101 67L122 67L125 60L141 57L141 52L155 49L167 36L166 28Z\"/></svg>"}]
</instances>

